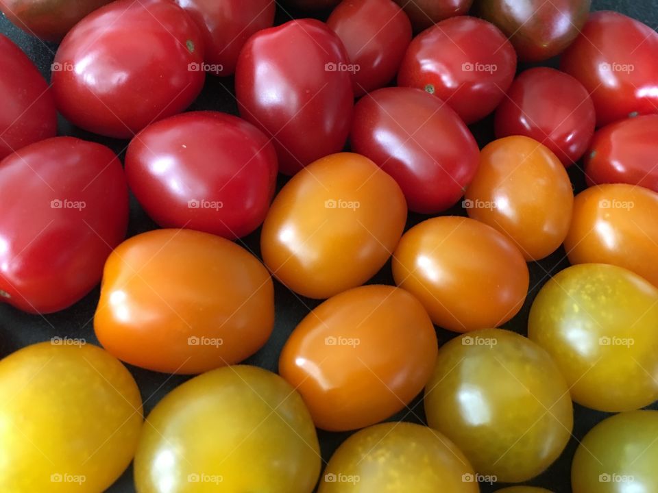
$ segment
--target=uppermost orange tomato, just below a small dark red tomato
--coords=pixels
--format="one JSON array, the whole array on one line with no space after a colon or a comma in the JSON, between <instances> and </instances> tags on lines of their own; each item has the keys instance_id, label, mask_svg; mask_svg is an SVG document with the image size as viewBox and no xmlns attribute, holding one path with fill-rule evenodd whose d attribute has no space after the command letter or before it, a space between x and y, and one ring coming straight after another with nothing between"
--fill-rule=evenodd
<instances>
[{"instance_id":1,"label":"uppermost orange tomato, just below a small dark red tomato","mask_svg":"<svg viewBox=\"0 0 658 493\"><path fill-rule=\"evenodd\" d=\"M526 260L539 260L564 241L574 192L548 147L523 136L494 140L466 189L468 215L509 238Z\"/></svg>"}]
</instances>

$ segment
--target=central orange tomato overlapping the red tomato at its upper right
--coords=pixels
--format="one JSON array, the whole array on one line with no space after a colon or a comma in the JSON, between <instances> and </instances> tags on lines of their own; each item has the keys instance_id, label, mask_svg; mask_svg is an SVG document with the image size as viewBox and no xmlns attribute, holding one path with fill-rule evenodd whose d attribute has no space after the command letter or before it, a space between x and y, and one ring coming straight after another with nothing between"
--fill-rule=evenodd
<instances>
[{"instance_id":1,"label":"central orange tomato overlapping the red tomato at its upper right","mask_svg":"<svg viewBox=\"0 0 658 493\"><path fill-rule=\"evenodd\" d=\"M265 218L260 249L279 281L324 299L374 276L405 222L402 190L389 175L362 155L332 154L282 188Z\"/></svg>"}]
</instances>

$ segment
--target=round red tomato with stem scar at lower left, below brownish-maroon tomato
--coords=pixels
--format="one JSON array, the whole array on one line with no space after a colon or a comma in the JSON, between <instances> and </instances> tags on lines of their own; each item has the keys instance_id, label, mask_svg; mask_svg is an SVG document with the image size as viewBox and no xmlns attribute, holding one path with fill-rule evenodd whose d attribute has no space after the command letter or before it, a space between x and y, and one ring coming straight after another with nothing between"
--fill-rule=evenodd
<instances>
[{"instance_id":1,"label":"round red tomato with stem scar at lower left, below brownish-maroon tomato","mask_svg":"<svg viewBox=\"0 0 658 493\"><path fill-rule=\"evenodd\" d=\"M424 89L466 123L496 109L514 79L516 54L493 24L452 17L416 36L406 50L398 86Z\"/></svg>"}]
</instances>

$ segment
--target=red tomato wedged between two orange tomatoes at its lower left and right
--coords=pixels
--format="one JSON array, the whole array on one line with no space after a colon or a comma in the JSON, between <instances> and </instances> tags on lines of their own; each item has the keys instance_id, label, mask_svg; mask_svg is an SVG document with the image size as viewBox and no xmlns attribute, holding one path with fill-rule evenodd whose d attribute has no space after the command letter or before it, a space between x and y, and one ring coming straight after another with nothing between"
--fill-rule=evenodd
<instances>
[{"instance_id":1,"label":"red tomato wedged between two orange tomatoes at its lower left and right","mask_svg":"<svg viewBox=\"0 0 658 493\"><path fill-rule=\"evenodd\" d=\"M354 108L351 141L398 182L409 209L424 214L454 205L478 167L478 145L463 121L419 89L366 94Z\"/></svg>"}]
</instances>

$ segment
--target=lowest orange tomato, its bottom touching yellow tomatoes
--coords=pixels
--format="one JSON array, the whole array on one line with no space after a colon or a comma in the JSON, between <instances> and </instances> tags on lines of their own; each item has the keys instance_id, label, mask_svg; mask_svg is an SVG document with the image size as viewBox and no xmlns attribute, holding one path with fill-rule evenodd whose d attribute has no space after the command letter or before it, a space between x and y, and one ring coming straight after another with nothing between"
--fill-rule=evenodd
<instances>
[{"instance_id":1,"label":"lowest orange tomato, its bottom touching yellow tomatoes","mask_svg":"<svg viewBox=\"0 0 658 493\"><path fill-rule=\"evenodd\" d=\"M361 286L332 296L297 325L279 375L302 394L317 427L346 431L404 409L423 390L437 349L432 320L414 296Z\"/></svg>"}]
</instances>

